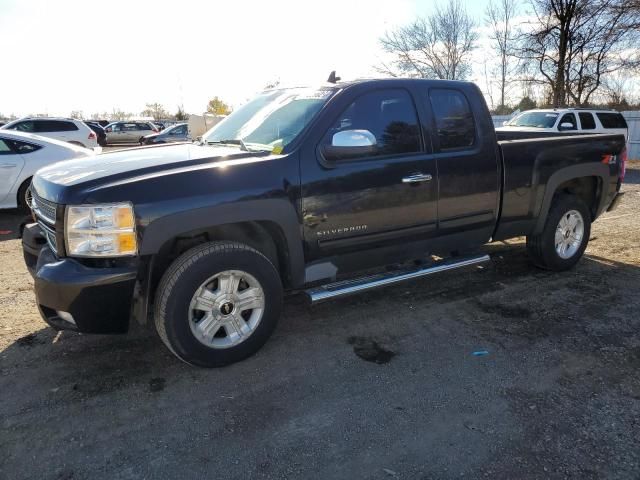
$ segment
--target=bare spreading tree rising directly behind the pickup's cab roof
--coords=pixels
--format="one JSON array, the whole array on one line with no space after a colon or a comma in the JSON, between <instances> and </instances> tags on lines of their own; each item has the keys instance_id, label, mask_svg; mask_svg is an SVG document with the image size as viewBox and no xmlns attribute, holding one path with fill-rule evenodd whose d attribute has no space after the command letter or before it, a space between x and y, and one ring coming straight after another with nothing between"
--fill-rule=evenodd
<instances>
[{"instance_id":1,"label":"bare spreading tree rising directly behind the pickup's cab roof","mask_svg":"<svg viewBox=\"0 0 640 480\"><path fill-rule=\"evenodd\" d=\"M464 79L471 73L469 57L478 39L475 28L460 0L449 0L444 8L436 5L432 15L380 39L392 61L377 69L392 76Z\"/></svg>"}]
</instances>

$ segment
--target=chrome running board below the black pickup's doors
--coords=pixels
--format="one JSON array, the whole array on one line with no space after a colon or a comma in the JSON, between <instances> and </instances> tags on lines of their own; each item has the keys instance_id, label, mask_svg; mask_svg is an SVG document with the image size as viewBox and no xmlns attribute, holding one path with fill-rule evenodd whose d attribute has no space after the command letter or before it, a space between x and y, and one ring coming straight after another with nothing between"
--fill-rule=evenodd
<instances>
[{"instance_id":1,"label":"chrome running board below the black pickup's doors","mask_svg":"<svg viewBox=\"0 0 640 480\"><path fill-rule=\"evenodd\" d=\"M372 290L384 285L391 285L393 283L411 280L412 278L425 277L433 273L446 272L448 270L477 265L478 263L488 261L489 255L448 259L438 262L430 267L420 268L418 270L399 270L395 272L386 272L367 277L360 277L352 280L328 283L326 285L305 290L305 293L311 300L311 303L320 303L331 298L353 295L355 293Z\"/></svg>"}]
</instances>

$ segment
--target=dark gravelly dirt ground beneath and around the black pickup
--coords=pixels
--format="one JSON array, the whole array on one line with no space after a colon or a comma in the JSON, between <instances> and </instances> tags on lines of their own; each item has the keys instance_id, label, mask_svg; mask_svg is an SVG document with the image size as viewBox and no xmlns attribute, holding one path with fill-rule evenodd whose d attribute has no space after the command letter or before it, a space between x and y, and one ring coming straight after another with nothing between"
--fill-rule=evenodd
<instances>
[{"instance_id":1,"label":"dark gravelly dirt ground beneath and around the black pickup","mask_svg":"<svg viewBox=\"0 0 640 480\"><path fill-rule=\"evenodd\" d=\"M569 272L517 239L483 268L293 297L216 370L150 330L47 328L2 213L0 478L638 479L640 163L624 190Z\"/></svg>"}]
</instances>

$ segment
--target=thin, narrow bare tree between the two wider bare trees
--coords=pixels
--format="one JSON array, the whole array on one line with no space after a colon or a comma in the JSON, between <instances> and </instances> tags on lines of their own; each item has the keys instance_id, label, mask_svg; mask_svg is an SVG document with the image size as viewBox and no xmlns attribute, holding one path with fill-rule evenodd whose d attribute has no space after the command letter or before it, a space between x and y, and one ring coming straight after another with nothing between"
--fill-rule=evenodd
<instances>
[{"instance_id":1,"label":"thin, narrow bare tree between the two wider bare trees","mask_svg":"<svg viewBox=\"0 0 640 480\"><path fill-rule=\"evenodd\" d=\"M517 65L517 36L514 25L514 18L517 14L517 0L489 0L489 5L485 12L486 24L490 29L493 50L498 55L500 63L498 65L498 84L500 88L500 104L496 110L505 110L507 86L511 81ZM486 64L485 64L486 65ZM498 112L501 113L501 112Z\"/></svg>"}]
</instances>

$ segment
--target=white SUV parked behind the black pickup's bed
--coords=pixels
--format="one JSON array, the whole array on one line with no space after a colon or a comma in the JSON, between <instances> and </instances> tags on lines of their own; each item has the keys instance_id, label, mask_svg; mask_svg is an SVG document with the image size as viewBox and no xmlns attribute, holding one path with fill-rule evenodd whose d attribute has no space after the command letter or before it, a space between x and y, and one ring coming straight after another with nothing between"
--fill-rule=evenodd
<instances>
[{"instance_id":1,"label":"white SUV parked behind the black pickup's bed","mask_svg":"<svg viewBox=\"0 0 640 480\"><path fill-rule=\"evenodd\" d=\"M620 112L584 108L527 110L497 132L620 133L629 139L627 122Z\"/></svg>"}]
</instances>

